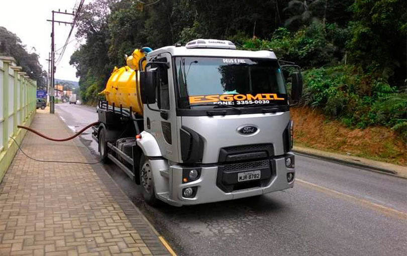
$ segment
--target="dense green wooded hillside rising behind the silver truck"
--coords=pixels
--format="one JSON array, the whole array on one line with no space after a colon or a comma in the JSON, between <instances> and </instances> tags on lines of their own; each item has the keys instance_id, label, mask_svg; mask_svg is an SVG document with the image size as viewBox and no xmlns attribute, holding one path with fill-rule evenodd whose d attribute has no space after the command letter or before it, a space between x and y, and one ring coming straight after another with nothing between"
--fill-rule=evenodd
<instances>
[{"instance_id":1,"label":"dense green wooded hillside rising behind the silver truck","mask_svg":"<svg viewBox=\"0 0 407 256\"><path fill-rule=\"evenodd\" d=\"M84 101L135 48L196 38L273 49L303 69L303 104L352 127L407 139L407 10L403 0L101 0L84 7L72 56Z\"/></svg>"}]
</instances>

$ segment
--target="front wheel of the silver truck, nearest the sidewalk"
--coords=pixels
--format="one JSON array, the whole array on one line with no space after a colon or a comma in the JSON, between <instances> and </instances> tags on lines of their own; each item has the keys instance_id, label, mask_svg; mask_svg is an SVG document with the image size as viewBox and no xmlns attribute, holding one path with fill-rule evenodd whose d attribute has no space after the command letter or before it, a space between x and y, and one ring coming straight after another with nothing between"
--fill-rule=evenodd
<instances>
[{"instance_id":1,"label":"front wheel of the silver truck, nearest the sidewalk","mask_svg":"<svg viewBox=\"0 0 407 256\"><path fill-rule=\"evenodd\" d=\"M141 154L140 158L140 185L143 188L144 201L151 205L157 206L158 200L155 197L153 171L151 170L148 158Z\"/></svg>"}]
</instances>

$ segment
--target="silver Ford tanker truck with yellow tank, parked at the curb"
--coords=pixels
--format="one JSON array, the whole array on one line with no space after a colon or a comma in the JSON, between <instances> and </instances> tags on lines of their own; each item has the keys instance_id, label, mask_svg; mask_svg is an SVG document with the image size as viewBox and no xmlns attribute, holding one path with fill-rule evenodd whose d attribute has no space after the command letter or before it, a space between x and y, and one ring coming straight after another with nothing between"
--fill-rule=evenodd
<instances>
[{"instance_id":1,"label":"silver Ford tanker truck with yellow tank, parked at the curb","mask_svg":"<svg viewBox=\"0 0 407 256\"><path fill-rule=\"evenodd\" d=\"M146 203L210 203L292 188L300 69L285 84L272 50L196 39L136 49L115 67L92 138L104 162L140 185Z\"/></svg>"}]
</instances>

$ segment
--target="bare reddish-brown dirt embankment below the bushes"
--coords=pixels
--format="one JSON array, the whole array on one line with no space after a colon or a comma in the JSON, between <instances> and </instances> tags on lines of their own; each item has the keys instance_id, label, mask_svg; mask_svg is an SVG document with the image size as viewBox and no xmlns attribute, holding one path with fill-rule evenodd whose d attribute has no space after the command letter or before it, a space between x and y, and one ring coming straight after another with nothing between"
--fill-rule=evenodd
<instances>
[{"instance_id":1,"label":"bare reddish-brown dirt embankment below the bushes","mask_svg":"<svg viewBox=\"0 0 407 256\"><path fill-rule=\"evenodd\" d=\"M290 112L297 146L407 165L405 143L387 127L350 129L309 107L292 107Z\"/></svg>"}]
</instances>

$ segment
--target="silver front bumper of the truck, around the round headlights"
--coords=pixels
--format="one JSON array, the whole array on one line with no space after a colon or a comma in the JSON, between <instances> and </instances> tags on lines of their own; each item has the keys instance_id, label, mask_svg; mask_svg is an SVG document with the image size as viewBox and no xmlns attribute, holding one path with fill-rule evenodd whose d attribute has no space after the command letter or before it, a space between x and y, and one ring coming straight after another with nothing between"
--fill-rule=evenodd
<instances>
[{"instance_id":1,"label":"silver front bumper of the truck, around the round headlights","mask_svg":"<svg viewBox=\"0 0 407 256\"><path fill-rule=\"evenodd\" d=\"M293 154L288 153L285 156L274 157L271 159L271 161L274 162L272 170L273 174L266 184L232 192L225 192L217 185L218 166L216 165L200 166L200 177L197 180L188 183L182 183L183 167L181 165L172 165L169 167L168 172L170 183L169 194L165 197L160 196L160 194L157 194L157 196L169 204L181 206L238 199L292 188L295 179L288 182L287 173L295 173L295 169L287 168L285 166L285 158L287 156L293 157ZM183 189L188 187L196 188L196 193L192 198L185 198L182 195Z\"/></svg>"}]
</instances>

